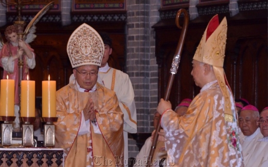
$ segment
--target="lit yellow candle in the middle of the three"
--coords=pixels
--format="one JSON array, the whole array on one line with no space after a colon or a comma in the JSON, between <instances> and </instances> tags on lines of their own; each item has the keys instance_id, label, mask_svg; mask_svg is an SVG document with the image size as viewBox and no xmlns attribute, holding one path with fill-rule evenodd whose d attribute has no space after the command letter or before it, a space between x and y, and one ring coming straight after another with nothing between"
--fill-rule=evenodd
<instances>
[{"instance_id":1,"label":"lit yellow candle in the middle of the three","mask_svg":"<svg viewBox=\"0 0 268 167\"><path fill-rule=\"evenodd\" d=\"M21 81L21 117L35 117L35 81L30 81L27 75L27 80Z\"/></svg>"}]
</instances>

